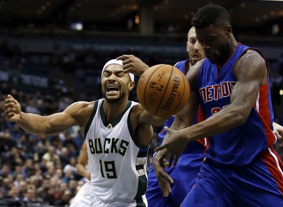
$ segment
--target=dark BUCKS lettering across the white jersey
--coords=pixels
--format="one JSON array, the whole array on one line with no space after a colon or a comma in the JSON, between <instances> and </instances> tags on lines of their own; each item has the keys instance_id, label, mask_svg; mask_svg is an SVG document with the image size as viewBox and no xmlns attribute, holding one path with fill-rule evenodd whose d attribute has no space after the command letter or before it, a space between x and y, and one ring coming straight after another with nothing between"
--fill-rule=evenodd
<instances>
[{"instance_id":1,"label":"dark BUCKS lettering across the white jersey","mask_svg":"<svg viewBox=\"0 0 283 207\"><path fill-rule=\"evenodd\" d=\"M93 143L92 140L88 139L88 145L91 154L119 153L120 155L124 156L129 147L129 142L114 137L106 137L103 145L100 137L97 137L93 140L95 143Z\"/></svg>"}]
</instances>

